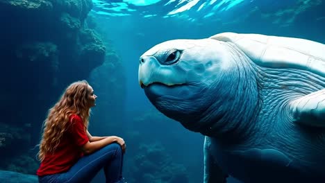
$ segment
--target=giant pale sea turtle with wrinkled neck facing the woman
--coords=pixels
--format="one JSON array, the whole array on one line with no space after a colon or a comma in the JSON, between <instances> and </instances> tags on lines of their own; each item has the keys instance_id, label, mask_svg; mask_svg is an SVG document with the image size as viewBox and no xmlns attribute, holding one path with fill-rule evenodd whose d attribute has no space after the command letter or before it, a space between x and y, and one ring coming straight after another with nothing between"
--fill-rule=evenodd
<instances>
[{"instance_id":1,"label":"giant pale sea turtle with wrinkled neck facing the woman","mask_svg":"<svg viewBox=\"0 0 325 183\"><path fill-rule=\"evenodd\" d=\"M138 76L160 112L205 135L203 182L325 182L324 44L170 40L141 55Z\"/></svg>"}]
</instances>

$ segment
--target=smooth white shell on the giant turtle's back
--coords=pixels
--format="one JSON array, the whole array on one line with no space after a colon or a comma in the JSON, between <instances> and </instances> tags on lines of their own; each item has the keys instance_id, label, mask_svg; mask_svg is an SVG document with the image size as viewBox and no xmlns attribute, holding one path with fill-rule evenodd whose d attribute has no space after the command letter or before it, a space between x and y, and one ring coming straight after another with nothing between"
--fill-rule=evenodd
<instances>
[{"instance_id":1,"label":"smooth white shell on the giant turtle's back","mask_svg":"<svg viewBox=\"0 0 325 183\"><path fill-rule=\"evenodd\" d=\"M325 44L260 34L219 33L209 38L232 42L262 67L301 69L325 77Z\"/></svg>"}]
</instances>

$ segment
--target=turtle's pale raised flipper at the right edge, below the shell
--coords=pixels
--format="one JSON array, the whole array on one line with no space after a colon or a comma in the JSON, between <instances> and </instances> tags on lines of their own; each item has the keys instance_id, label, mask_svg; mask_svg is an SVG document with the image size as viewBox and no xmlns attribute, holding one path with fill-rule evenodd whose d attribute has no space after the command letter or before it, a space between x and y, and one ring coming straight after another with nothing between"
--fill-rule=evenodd
<instances>
[{"instance_id":1,"label":"turtle's pale raised flipper at the right edge, below the shell","mask_svg":"<svg viewBox=\"0 0 325 183\"><path fill-rule=\"evenodd\" d=\"M325 128L325 89L293 101L291 107L295 122Z\"/></svg>"}]
</instances>

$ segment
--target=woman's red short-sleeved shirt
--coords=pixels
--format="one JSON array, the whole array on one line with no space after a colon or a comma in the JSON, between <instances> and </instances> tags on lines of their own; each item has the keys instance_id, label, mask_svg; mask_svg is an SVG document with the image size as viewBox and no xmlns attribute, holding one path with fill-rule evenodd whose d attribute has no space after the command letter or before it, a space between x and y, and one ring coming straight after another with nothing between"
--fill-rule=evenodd
<instances>
[{"instance_id":1,"label":"woman's red short-sleeved shirt","mask_svg":"<svg viewBox=\"0 0 325 183\"><path fill-rule=\"evenodd\" d=\"M64 132L58 148L53 154L45 155L40 168L38 168L37 175L65 172L83 156L81 147L89 141L83 120L80 116L72 114L69 123L69 128Z\"/></svg>"}]
</instances>

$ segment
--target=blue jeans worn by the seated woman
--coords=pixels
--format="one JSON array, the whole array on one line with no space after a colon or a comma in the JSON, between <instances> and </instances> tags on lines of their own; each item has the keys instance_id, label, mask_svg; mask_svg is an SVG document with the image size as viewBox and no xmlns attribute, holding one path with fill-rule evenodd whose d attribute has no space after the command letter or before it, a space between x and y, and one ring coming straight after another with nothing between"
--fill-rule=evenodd
<instances>
[{"instance_id":1,"label":"blue jeans worn by the seated woman","mask_svg":"<svg viewBox=\"0 0 325 183\"><path fill-rule=\"evenodd\" d=\"M122 183L123 153L118 143L111 143L96 152L85 155L65 173L38 177L40 183L90 182L103 168L106 183Z\"/></svg>"}]
</instances>

